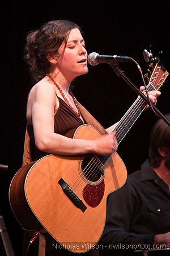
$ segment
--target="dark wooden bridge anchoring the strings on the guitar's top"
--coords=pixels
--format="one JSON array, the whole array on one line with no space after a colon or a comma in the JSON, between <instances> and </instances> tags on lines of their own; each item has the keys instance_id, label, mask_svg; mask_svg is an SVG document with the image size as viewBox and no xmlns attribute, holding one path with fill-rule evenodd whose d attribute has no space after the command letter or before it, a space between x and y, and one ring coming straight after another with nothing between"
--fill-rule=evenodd
<instances>
[{"instance_id":1,"label":"dark wooden bridge anchoring the strings on the guitar's top","mask_svg":"<svg viewBox=\"0 0 170 256\"><path fill-rule=\"evenodd\" d=\"M71 202L80 210L82 210L82 212L85 212L85 210L87 209L86 205L84 205L82 200L80 200L79 197L76 196L73 189L71 189L71 187L62 178L59 179L58 184L61 185L63 192L66 194L67 197L69 197Z\"/></svg>"}]
</instances>

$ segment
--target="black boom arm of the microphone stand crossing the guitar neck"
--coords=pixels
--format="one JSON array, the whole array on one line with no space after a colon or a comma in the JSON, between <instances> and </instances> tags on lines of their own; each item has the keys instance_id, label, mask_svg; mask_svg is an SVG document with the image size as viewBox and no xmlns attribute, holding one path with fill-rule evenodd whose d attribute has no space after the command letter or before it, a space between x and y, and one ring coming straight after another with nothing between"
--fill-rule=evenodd
<instances>
[{"instance_id":1,"label":"black boom arm of the microphone stand crossing the guitar neck","mask_svg":"<svg viewBox=\"0 0 170 256\"><path fill-rule=\"evenodd\" d=\"M148 98L141 92L141 90L139 90L137 88L136 85L133 84L133 82L129 79L128 76L125 75L124 71L122 71L122 69L120 68L120 66L117 63L117 60L114 60L114 64L110 64L111 67L114 69L114 72L118 75L118 77L121 77L122 79L124 79L127 84L130 85L130 87L136 92L138 93L139 96L141 96L141 98L143 98L143 100L145 100L147 102L148 105L150 105L150 101L148 101ZM167 125L170 127L170 122L168 120L168 118L166 118L160 111L158 108L156 108L156 106L154 104L152 104L152 108L154 109L155 113L161 118L163 119L163 121L165 123L167 123Z\"/></svg>"}]
</instances>

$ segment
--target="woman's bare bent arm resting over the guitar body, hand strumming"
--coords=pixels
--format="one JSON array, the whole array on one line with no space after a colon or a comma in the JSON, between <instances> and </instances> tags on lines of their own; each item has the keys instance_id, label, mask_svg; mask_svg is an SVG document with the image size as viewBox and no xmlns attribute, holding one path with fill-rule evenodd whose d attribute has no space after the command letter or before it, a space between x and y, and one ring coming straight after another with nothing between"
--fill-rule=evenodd
<instances>
[{"instance_id":1,"label":"woman's bare bent arm resting over the guitar body, hand strumming","mask_svg":"<svg viewBox=\"0 0 170 256\"><path fill-rule=\"evenodd\" d=\"M114 134L85 140L70 139L54 133L54 112L58 108L57 104L54 87L48 83L37 84L29 94L27 119L31 119L31 109L35 143L40 151L62 155L112 154L115 148Z\"/></svg>"}]
</instances>

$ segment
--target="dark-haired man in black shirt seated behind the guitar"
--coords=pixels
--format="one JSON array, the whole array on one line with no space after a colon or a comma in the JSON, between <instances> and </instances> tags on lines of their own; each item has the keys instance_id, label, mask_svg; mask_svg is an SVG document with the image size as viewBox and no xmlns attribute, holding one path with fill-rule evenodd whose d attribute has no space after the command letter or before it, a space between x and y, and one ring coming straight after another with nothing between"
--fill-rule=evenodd
<instances>
[{"instance_id":1,"label":"dark-haired man in black shirt seated behind the guitar","mask_svg":"<svg viewBox=\"0 0 170 256\"><path fill-rule=\"evenodd\" d=\"M165 117L170 120L170 113ZM139 254L134 251L170 255L169 189L170 127L159 119L151 130L149 157L141 170L108 197L100 256Z\"/></svg>"}]
</instances>

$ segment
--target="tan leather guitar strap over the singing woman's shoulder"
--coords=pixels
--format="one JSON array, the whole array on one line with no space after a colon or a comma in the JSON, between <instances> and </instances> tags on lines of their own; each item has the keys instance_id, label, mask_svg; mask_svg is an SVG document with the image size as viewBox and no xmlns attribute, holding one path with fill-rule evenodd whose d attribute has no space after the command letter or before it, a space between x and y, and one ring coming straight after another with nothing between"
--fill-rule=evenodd
<instances>
[{"instance_id":1,"label":"tan leather guitar strap over the singing woman's shoulder","mask_svg":"<svg viewBox=\"0 0 170 256\"><path fill-rule=\"evenodd\" d=\"M99 131L100 134L104 135L107 134L107 131L104 129L103 126L100 125L100 123L88 112L86 108L82 104L78 102L78 106L80 109L80 113L84 119L84 121L88 124L93 126L97 131ZM24 151L23 151L23 163L22 166L25 166L25 164L31 163L32 158L31 158L31 148L30 148L30 137L29 137L29 132L28 132L28 125L26 127L25 131L25 139L24 139ZM25 235L29 234L29 236L32 236L33 230L24 230ZM45 237L39 232L39 256L45 255ZM25 242L25 241L24 241ZM97 255L93 250L91 253L94 255ZM90 253L90 255L91 255Z\"/></svg>"}]
</instances>

